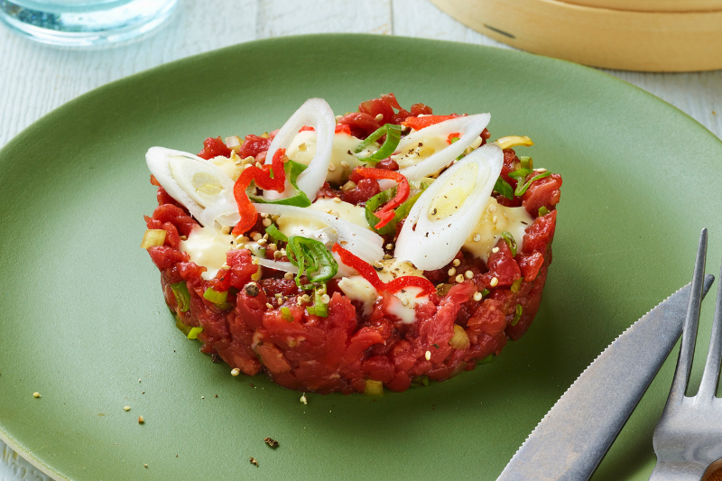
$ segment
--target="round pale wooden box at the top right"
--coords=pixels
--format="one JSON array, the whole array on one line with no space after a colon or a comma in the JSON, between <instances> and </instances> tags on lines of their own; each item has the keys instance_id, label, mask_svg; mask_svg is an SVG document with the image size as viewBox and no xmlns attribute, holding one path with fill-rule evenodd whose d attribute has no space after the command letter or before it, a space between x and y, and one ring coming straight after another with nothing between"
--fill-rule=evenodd
<instances>
[{"instance_id":1,"label":"round pale wooden box at the top right","mask_svg":"<svg viewBox=\"0 0 722 481\"><path fill-rule=\"evenodd\" d=\"M431 2L477 32L542 55L606 69L722 69L722 0Z\"/></svg>"}]
</instances>

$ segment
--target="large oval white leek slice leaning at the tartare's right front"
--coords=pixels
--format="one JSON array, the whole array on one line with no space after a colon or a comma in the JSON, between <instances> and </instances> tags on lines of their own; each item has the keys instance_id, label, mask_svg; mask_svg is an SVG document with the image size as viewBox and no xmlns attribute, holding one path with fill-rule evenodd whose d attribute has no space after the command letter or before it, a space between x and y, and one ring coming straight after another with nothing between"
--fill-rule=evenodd
<instances>
[{"instance_id":1,"label":"large oval white leek slice leaning at the tartare's right front","mask_svg":"<svg viewBox=\"0 0 722 481\"><path fill-rule=\"evenodd\" d=\"M477 179L467 198L448 217L430 220L429 211L434 200L444 188L453 189L447 186L447 181L470 162L477 164ZM477 226L503 165L502 150L494 144L486 144L444 171L413 205L396 240L394 256L424 271L449 264Z\"/></svg>"}]
</instances>

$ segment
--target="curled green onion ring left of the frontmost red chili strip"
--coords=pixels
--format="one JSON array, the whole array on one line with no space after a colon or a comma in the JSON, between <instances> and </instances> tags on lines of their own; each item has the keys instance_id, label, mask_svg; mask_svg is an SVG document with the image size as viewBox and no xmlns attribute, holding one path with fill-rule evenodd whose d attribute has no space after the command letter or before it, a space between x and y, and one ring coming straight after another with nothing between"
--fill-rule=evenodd
<instances>
[{"instance_id":1,"label":"curled green onion ring left of the frontmost red chili strip","mask_svg":"<svg viewBox=\"0 0 722 481\"><path fill-rule=\"evenodd\" d=\"M296 285L302 289L310 289L313 282L326 282L338 273L338 264L333 255L326 245L316 239L292 236L286 245L286 253L289 262L299 268ZM301 286L301 275L304 273L310 283Z\"/></svg>"}]
</instances>

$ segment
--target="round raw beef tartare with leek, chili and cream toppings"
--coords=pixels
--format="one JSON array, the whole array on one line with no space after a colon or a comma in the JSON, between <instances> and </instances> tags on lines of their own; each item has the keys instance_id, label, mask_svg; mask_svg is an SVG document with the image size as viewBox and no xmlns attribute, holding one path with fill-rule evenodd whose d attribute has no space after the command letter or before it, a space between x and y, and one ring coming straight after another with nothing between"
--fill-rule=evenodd
<instances>
[{"instance_id":1,"label":"round raw beef tartare with leek, chili and cream toppings","mask_svg":"<svg viewBox=\"0 0 722 481\"><path fill-rule=\"evenodd\" d=\"M314 393L402 392L472 370L521 338L542 301L561 186L515 153L531 140L492 143L478 116L407 111L393 94L330 126L312 110L324 106L309 108L270 134L210 137L189 166L149 160L159 206L145 217L143 247L176 325L234 373ZM458 156L424 171L458 142ZM498 155L501 171L484 173L485 155ZM214 180L215 169L227 179ZM228 206L210 206L220 195ZM468 227L438 227L457 227L462 210Z\"/></svg>"}]
</instances>

